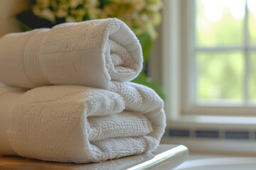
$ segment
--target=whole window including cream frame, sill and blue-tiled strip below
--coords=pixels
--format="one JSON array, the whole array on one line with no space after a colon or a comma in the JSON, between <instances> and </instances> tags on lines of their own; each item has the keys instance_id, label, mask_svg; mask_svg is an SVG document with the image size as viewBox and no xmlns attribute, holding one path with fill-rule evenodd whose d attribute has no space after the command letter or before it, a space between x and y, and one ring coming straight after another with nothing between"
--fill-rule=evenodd
<instances>
[{"instance_id":1,"label":"whole window including cream frame, sill and blue-tiled strip below","mask_svg":"<svg viewBox=\"0 0 256 170\"><path fill-rule=\"evenodd\" d=\"M164 1L168 129L161 142L196 152L256 152L255 3ZM240 12L234 12L238 6Z\"/></svg>"}]
</instances>

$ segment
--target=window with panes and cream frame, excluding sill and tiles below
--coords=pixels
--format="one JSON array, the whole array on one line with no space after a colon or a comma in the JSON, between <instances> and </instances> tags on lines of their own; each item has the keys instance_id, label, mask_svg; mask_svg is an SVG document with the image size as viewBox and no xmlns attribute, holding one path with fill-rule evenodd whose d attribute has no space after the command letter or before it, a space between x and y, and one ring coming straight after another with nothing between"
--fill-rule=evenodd
<instances>
[{"instance_id":1,"label":"window with panes and cream frame, excluding sill and tiles below","mask_svg":"<svg viewBox=\"0 0 256 170\"><path fill-rule=\"evenodd\" d=\"M164 10L171 18L164 17L163 28L172 36L164 36L163 62L169 63L163 72L171 117L255 115L256 1L165 2L171 8Z\"/></svg>"}]
</instances>

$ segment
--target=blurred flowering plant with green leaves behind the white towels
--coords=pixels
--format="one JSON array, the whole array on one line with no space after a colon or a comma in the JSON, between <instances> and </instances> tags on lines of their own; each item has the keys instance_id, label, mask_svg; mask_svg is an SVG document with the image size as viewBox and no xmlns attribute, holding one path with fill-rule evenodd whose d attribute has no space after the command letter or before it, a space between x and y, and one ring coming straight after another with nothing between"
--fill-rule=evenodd
<instances>
[{"instance_id":1,"label":"blurred flowering plant with green leaves behind the white towels","mask_svg":"<svg viewBox=\"0 0 256 170\"><path fill-rule=\"evenodd\" d=\"M59 23L97 18L119 18L131 28L142 44L144 66L156 38L155 26L161 21L161 0L31 0L27 11L18 13L24 30L51 28ZM144 67L145 68L145 67ZM159 85L145 69L135 81L151 86L163 96Z\"/></svg>"}]
</instances>

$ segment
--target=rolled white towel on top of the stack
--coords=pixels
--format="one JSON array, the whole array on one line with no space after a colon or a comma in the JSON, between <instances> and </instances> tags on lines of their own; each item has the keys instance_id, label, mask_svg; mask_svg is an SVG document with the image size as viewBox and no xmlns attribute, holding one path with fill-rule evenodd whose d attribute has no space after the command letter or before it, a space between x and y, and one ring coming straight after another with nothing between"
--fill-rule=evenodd
<instances>
[{"instance_id":1,"label":"rolled white towel on top of the stack","mask_svg":"<svg viewBox=\"0 0 256 170\"><path fill-rule=\"evenodd\" d=\"M33 88L50 84L107 89L142 70L142 48L117 18L63 23L0 39L0 81Z\"/></svg>"}]
</instances>

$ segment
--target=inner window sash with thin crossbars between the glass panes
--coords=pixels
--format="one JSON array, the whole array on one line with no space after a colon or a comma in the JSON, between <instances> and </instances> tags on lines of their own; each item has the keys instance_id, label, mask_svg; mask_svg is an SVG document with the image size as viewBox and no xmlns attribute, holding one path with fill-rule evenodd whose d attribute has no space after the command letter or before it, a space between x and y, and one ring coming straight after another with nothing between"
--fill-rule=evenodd
<instances>
[{"instance_id":1,"label":"inner window sash with thin crossbars between the glass panes","mask_svg":"<svg viewBox=\"0 0 256 170\"><path fill-rule=\"evenodd\" d=\"M183 1L184 3L184 1ZM186 6L193 6L194 2L193 0L192 1L186 1L185 2ZM194 8L188 8L188 16L190 16L191 18L188 20L188 26L185 26L185 28L188 28L190 30L187 30L187 33L193 33L195 32L193 30L194 28L194 23L193 23L193 20L194 20L194 11L193 11ZM247 19L248 19L248 16L247 16L247 11L245 12L245 15L246 15L246 20L244 22L244 30L247 29ZM186 16L181 16L181 17L186 17ZM183 99L182 103L183 103L183 113L189 113L189 114L209 114L209 115L216 115L216 114L220 114L220 115L241 115L242 113L242 116L244 115L255 115L255 103L249 103L248 102L248 91L247 91L247 79L249 77L249 63L248 63L248 52L249 52L249 48L252 49L252 47L249 47L248 44L247 44L247 40L248 40L248 35L247 35L247 32L245 31L244 33L244 42L245 42L245 46L244 47L210 47L210 48L207 48L207 47L192 47L190 45L192 45L194 42L195 42L195 38L194 38L194 35L188 35L189 36L189 39L190 41L187 41L188 42L188 52L186 54L183 54L183 56L185 57L186 56L186 59L188 60L185 60L185 62L192 62L193 65L190 65L188 63L184 63L184 64L187 64L189 65L190 67L188 67L188 71L186 70L186 72L189 72L191 74L195 73L195 69L194 68L194 65L196 63L194 63L195 60L193 60L192 58L194 56L192 56L195 52L194 50L196 51L218 51L218 50L222 50L222 51L225 51L225 50L242 50L243 52L245 52L245 75L244 75L244 98L245 98L245 102L244 103L213 103L213 104L210 104L210 103L201 103L201 104L198 104L197 103L197 106L195 106L195 103L193 103L193 101L195 101L195 96L196 94L194 94L194 92L196 92L196 82L195 79L193 79L192 77L195 77L195 75L187 75L188 77L186 77L186 79L188 79L188 81L184 80L184 82L186 82L185 85L187 84L191 84L191 88L193 89L188 89L189 87L188 86L183 86L183 91L186 91L186 94L188 94L186 96L183 95L183 98L186 98L186 99ZM234 109L235 108L235 109Z\"/></svg>"}]
</instances>

